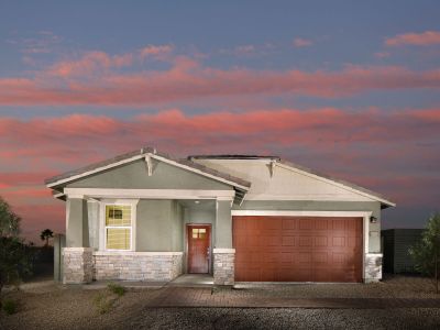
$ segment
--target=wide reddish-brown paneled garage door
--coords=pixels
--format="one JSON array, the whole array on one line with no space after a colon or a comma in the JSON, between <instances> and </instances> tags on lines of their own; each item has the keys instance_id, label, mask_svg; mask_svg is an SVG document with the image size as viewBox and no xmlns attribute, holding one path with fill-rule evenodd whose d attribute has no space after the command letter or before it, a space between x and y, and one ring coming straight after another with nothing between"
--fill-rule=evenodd
<instances>
[{"instance_id":1,"label":"wide reddish-brown paneled garage door","mask_svg":"<svg viewBox=\"0 0 440 330\"><path fill-rule=\"evenodd\" d=\"M362 218L233 217L235 280L361 282Z\"/></svg>"}]
</instances>

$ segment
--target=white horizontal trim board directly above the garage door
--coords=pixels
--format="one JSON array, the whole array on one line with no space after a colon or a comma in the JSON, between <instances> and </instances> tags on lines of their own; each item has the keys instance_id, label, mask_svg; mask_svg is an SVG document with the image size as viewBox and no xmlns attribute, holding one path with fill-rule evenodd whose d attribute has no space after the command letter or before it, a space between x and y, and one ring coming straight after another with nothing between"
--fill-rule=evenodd
<instances>
[{"instance_id":1,"label":"white horizontal trim board directly above the garage door","mask_svg":"<svg viewBox=\"0 0 440 330\"><path fill-rule=\"evenodd\" d=\"M262 217L371 217L371 211L276 211L276 210L232 210L232 216L262 216Z\"/></svg>"}]
</instances>

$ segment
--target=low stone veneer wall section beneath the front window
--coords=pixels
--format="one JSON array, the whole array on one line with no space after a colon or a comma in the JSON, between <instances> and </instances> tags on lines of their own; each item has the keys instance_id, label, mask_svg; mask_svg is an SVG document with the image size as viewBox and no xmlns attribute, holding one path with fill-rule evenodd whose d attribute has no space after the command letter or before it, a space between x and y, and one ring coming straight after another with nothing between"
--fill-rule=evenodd
<instances>
[{"instance_id":1,"label":"low stone veneer wall section beneath the front window","mask_svg":"<svg viewBox=\"0 0 440 330\"><path fill-rule=\"evenodd\" d=\"M183 252L94 252L94 279L169 282L182 274Z\"/></svg>"}]
</instances>

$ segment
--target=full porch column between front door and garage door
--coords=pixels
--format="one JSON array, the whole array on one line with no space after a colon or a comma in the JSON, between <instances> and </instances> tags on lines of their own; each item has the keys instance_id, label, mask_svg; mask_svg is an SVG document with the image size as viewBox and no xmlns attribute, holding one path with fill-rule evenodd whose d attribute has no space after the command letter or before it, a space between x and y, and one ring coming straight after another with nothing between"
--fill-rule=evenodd
<instances>
[{"instance_id":1,"label":"full porch column between front door and garage door","mask_svg":"<svg viewBox=\"0 0 440 330\"><path fill-rule=\"evenodd\" d=\"M235 250L232 249L232 200L217 200L213 283L234 284Z\"/></svg>"}]
</instances>

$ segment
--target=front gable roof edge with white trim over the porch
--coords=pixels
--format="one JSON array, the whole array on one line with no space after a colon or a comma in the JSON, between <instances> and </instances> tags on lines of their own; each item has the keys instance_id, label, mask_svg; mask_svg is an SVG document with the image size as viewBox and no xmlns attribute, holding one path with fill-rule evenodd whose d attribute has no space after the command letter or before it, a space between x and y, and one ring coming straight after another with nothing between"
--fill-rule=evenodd
<instances>
[{"instance_id":1,"label":"front gable roof edge with white trim over the porch","mask_svg":"<svg viewBox=\"0 0 440 330\"><path fill-rule=\"evenodd\" d=\"M92 175L92 174L96 174L96 173L99 173L102 170L107 170L107 169L116 167L116 166L120 166L120 165L128 164L128 163L131 163L131 162L134 162L138 160L142 160L148 155L157 161L169 163L175 166L185 168L187 170L195 172L200 175L210 177L212 179L227 183L227 184L235 187L238 193L241 193L242 195L244 195L245 191L248 191L249 188L251 187L251 183L249 183L242 178L238 178L238 177L231 176L229 174L221 173L219 170L206 167L204 165L196 164L186 158L178 160L168 154L158 153L153 147L142 147L141 150L125 153L125 154L116 156L110 160L106 160L106 161L102 161L99 163L88 165L86 167L66 172L64 174L61 174L61 175L57 175L57 176L46 179L45 184L47 187L56 190L56 187L61 186L63 184L66 184L66 183L73 182L73 180L77 180L81 177L89 176L89 175ZM55 193L55 195L56 195L56 193Z\"/></svg>"}]
</instances>

